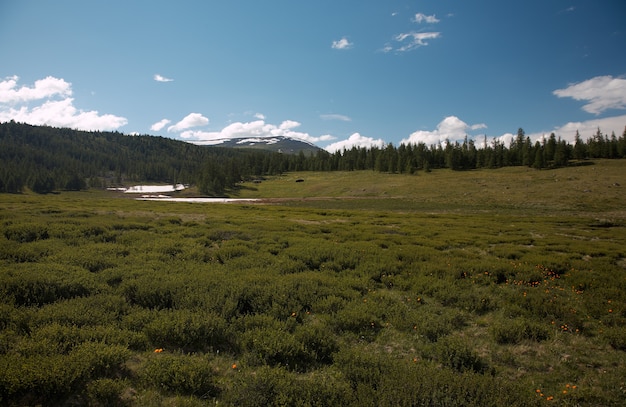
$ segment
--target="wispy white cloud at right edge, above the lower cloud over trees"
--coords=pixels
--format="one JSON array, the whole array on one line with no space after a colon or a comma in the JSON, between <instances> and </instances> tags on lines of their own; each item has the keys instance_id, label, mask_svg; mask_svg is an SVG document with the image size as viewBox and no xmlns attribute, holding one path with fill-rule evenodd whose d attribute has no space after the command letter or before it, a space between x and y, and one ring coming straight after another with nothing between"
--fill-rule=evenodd
<instances>
[{"instance_id":1,"label":"wispy white cloud at right edge, above the lower cloud over trees","mask_svg":"<svg viewBox=\"0 0 626 407\"><path fill-rule=\"evenodd\" d=\"M583 110L596 115L608 109L626 109L626 79L610 75L596 76L552 93L561 98L587 101Z\"/></svg>"}]
</instances>

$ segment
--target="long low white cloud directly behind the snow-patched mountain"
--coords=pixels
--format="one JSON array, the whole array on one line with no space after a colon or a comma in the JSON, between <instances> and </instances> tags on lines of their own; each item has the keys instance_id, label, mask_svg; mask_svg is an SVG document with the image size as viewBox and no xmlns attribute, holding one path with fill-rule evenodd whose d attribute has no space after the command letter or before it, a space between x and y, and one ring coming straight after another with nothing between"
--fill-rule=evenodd
<instances>
[{"instance_id":1,"label":"long low white cloud directly behind the snow-patched mountain","mask_svg":"<svg viewBox=\"0 0 626 407\"><path fill-rule=\"evenodd\" d=\"M285 120L279 125L266 123L264 120L255 120L231 123L219 131L188 130L182 132L180 137L196 144L217 144L233 138L273 138L279 136L291 137L309 143L335 139L331 135L311 136L308 133L295 130L298 127L300 127L300 123L294 120Z\"/></svg>"}]
</instances>

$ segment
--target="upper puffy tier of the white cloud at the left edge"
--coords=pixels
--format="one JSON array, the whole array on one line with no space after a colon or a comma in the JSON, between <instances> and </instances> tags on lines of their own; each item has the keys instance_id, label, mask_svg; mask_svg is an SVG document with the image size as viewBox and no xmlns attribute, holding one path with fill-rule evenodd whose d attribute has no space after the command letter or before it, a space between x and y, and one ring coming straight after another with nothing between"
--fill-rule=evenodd
<instances>
[{"instance_id":1,"label":"upper puffy tier of the white cloud at the left edge","mask_svg":"<svg viewBox=\"0 0 626 407\"><path fill-rule=\"evenodd\" d=\"M17 88L18 81L18 76L11 76L0 82L0 103L23 103L56 95L64 97L72 95L71 83L52 76L36 80L32 88L26 86Z\"/></svg>"}]
</instances>

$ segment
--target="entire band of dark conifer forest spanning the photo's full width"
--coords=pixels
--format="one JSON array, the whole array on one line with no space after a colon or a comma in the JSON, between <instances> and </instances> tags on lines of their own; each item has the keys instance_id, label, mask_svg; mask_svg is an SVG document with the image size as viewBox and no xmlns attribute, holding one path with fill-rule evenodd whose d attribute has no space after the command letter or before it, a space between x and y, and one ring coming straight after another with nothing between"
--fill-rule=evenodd
<instances>
[{"instance_id":1,"label":"entire band of dark conifer forest spanning the photo's full width","mask_svg":"<svg viewBox=\"0 0 626 407\"><path fill-rule=\"evenodd\" d=\"M505 145L498 139L447 141L426 145L389 143L335 153L281 154L262 150L197 146L156 136L87 132L0 124L0 192L37 193L121 186L129 182L196 185L207 195L223 195L241 181L287 171L372 170L415 174L439 168L471 170L528 166L557 168L581 160L625 158L626 129L617 137L600 129L568 143L552 133L534 143L520 128Z\"/></svg>"}]
</instances>

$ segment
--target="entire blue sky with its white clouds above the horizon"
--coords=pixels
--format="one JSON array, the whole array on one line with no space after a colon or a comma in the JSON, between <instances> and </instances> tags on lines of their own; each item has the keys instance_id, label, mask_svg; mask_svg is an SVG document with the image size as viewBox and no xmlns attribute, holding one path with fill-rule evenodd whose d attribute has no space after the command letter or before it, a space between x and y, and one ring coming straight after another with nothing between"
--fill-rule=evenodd
<instances>
[{"instance_id":1,"label":"entire blue sky with its white clouds above the horizon","mask_svg":"<svg viewBox=\"0 0 626 407\"><path fill-rule=\"evenodd\" d=\"M329 150L626 126L622 0L0 2L0 122Z\"/></svg>"}]
</instances>

